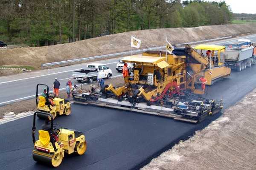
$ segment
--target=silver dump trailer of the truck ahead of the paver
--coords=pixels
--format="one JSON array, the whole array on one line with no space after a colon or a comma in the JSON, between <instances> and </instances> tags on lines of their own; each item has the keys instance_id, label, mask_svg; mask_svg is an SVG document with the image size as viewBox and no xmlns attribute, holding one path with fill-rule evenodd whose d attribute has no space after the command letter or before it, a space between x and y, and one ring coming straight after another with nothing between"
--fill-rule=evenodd
<instances>
[{"instance_id":1,"label":"silver dump trailer of the truck ahead of the paver","mask_svg":"<svg viewBox=\"0 0 256 170\"><path fill-rule=\"evenodd\" d=\"M225 62L233 69L242 71L251 65L256 64L255 56L253 56L254 47L235 47L225 51Z\"/></svg>"}]
</instances>

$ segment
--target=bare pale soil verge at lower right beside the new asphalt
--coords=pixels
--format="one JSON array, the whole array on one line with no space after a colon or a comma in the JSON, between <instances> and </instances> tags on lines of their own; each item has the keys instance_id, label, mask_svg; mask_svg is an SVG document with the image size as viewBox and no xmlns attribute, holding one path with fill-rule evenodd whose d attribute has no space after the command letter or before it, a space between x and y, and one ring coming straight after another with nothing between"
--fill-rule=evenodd
<instances>
[{"instance_id":1,"label":"bare pale soil verge at lower right beside the new asphalt","mask_svg":"<svg viewBox=\"0 0 256 170\"><path fill-rule=\"evenodd\" d=\"M255 170L256 89L141 170Z\"/></svg>"}]
</instances>

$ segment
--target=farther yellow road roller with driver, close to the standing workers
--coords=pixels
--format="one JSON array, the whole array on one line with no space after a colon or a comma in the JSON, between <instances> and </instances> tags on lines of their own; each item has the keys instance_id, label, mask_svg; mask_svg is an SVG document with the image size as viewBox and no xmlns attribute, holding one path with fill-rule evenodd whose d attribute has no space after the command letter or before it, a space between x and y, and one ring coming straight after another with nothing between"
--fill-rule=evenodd
<instances>
[{"instance_id":1,"label":"farther yellow road roller with driver, close to the standing workers","mask_svg":"<svg viewBox=\"0 0 256 170\"><path fill-rule=\"evenodd\" d=\"M41 94L41 96L38 96L39 85L43 85L46 87L43 93ZM38 84L36 86L35 102L36 102L38 111L50 113L53 119L55 119L57 115L71 114L70 102L67 100L49 95L48 85ZM38 117L41 118L41 114L38 114Z\"/></svg>"}]
</instances>

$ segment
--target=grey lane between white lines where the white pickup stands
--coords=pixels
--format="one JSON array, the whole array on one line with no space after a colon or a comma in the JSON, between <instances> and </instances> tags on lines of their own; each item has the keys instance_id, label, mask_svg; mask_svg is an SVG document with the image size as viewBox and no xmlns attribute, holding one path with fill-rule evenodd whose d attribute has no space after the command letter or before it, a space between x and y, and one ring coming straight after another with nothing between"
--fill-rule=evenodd
<instances>
[{"instance_id":1,"label":"grey lane between white lines where the white pickup stands","mask_svg":"<svg viewBox=\"0 0 256 170\"><path fill-rule=\"evenodd\" d=\"M116 71L116 63L111 63L108 64L108 67L111 68L112 70L112 76L117 76L120 75ZM47 77L36 77L34 79L27 79L27 80L22 80L22 81L17 81L17 82L10 82L10 83L5 83L5 84L0 84L0 103L2 102L9 102L15 99L20 99L23 97L27 96L32 96L35 95L36 91L36 85L38 83L46 84L49 86L49 90L52 91L52 84L54 82L55 78L58 78L58 80L61 83L61 88L66 87L66 82L68 79L71 79L73 85L79 85L81 83L78 83L75 79L72 77L72 72L65 72L62 74L57 74L57 75L50 75ZM42 88L39 89L39 93L42 92ZM7 104L7 103L3 103Z\"/></svg>"}]
</instances>

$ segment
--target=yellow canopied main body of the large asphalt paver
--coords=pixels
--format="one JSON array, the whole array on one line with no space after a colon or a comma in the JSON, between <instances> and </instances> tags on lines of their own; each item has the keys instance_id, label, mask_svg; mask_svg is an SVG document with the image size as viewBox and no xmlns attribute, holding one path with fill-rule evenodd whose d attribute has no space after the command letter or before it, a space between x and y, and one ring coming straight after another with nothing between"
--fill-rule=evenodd
<instances>
[{"instance_id":1,"label":"yellow canopied main body of the large asphalt paver","mask_svg":"<svg viewBox=\"0 0 256 170\"><path fill-rule=\"evenodd\" d=\"M143 96L143 98L148 101L153 96L161 94L166 88L166 85L169 85L169 89L172 90L172 82L174 79L177 80L177 84L185 87L185 59L186 56L166 55L165 51L156 51L156 53L143 53L142 55L125 57L122 61L136 64L134 67L134 79L128 80L130 85L150 85L150 87L146 89L142 87L139 88L140 93L138 94L138 96ZM154 74L156 72L158 75ZM145 79L145 77L150 78ZM126 85L115 89L111 84L106 90L112 91L116 96L127 92L132 96L134 93L133 89Z\"/></svg>"}]
</instances>

